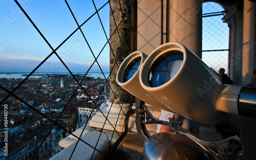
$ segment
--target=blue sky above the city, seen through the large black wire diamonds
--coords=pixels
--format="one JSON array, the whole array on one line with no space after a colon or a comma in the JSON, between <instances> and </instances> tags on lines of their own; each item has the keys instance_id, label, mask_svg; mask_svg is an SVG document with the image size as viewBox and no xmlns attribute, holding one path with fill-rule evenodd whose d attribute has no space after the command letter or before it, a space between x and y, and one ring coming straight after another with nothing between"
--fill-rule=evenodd
<instances>
[{"instance_id":1,"label":"blue sky above the city, seen through the large black wire diamonds","mask_svg":"<svg viewBox=\"0 0 256 160\"><path fill-rule=\"evenodd\" d=\"M77 29L77 24L65 1L18 2L54 49ZM68 3L79 24L96 12L92 1L68 1ZM105 3L106 1L102 0L95 1L96 8L99 9ZM99 15L109 37L109 4L99 11ZM97 14L81 29L97 57L107 41ZM0 1L0 35L0 72L31 72L52 52L14 1ZM79 30L56 52L72 72L86 72L95 60ZM108 45L97 60L102 69L108 72ZM99 68L95 64L91 72L96 70L99 71ZM36 72L68 71L53 55Z\"/></svg>"}]
</instances>

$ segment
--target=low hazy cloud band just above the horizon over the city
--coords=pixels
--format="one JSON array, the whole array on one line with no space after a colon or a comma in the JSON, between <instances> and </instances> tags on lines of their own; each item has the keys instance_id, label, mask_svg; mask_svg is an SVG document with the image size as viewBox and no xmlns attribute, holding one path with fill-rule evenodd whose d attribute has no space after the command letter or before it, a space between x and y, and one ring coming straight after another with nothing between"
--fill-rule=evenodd
<instances>
[{"instance_id":1,"label":"low hazy cloud band just above the horizon over the city","mask_svg":"<svg viewBox=\"0 0 256 160\"><path fill-rule=\"evenodd\" d=\"M27 56L0 55L0 72L31 72L44 59L31 58ZM72 72L87 72L93 62L65 62ZM108 65L100 65L104 72L109 72ZM95 63L90 72L99 72ZM58 59L48 59L35 72L68 72L68 69Z\"/></svg>"}]
</instances>

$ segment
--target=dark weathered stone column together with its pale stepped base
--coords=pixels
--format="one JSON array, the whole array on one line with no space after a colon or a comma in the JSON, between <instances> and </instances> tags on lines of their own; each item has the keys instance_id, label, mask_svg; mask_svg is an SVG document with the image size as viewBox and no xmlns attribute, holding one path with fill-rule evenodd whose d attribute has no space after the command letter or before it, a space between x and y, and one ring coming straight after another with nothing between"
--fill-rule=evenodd
<instances>
[{"instance_id":1,"label":"dark weathered stone column together with its pale stepped base","mask_svg":"<svg viewBox=\"0 0 256 160\"><path fill-rule=\"evenodd\" d=\"M137 3L113 0L110 5L110 99L105 106L100 106L101 112L92 117L90 126L122 132L129 110L130 93L118 86L116 74L123 60L137 49Z\"/></svg>"}]
</instances>

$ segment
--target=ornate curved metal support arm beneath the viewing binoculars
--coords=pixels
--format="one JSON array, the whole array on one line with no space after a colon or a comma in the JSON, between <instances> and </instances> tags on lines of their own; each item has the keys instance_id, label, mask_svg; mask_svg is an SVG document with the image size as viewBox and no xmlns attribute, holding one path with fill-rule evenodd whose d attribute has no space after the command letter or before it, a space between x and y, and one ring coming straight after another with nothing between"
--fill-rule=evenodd
<instances>
[{"instance_id":1,"label":"ornate curved metal support arm beneath the viewing binoculars","mask_svg":"<svg viewBox=\"0 0 256 160\"><path fill-rule=\"evenodd\" d=\"M172 118L169 118L169 122L156 119L142 102L139 103L136 101L136 115L137 131L143 142L150 137L145 125L161 124L170 127L173 134L179 132L180 134L187 136L216 159L227 159L229 156L238 157L238 155L242 154L244 151L238 137L229 137L219 141L200 139L185 128L182 128L180 126L180 121L173 120Z\"/></svg>"}]
</instances>

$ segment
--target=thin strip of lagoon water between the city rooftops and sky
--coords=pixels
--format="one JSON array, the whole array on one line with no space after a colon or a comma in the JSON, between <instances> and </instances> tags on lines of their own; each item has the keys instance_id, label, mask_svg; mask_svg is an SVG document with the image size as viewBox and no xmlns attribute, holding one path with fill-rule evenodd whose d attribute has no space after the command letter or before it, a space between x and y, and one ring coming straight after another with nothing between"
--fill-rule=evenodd
<instances>
[{"instance_id":1,"label":"thin strip of lagoon water between the city rooftops and sky","mask_svg":"<svg viewBox=\"0 0 256 160\"><path fill-rule=\"evenodd\" d=\"M29 73L0 73L0 78L26 78L26 76L24 75L28 75ZM29 78L39 78L39 77L42 77L43 75L46 75L46 74L69 74L69 73L34 73L35 75L31 75ZM78 74L78 73L73 73L73 74ZM84 75L85 73L79 73L81 75ZM108 78L110 73L104 73L105 77ZM102 73L88 73L88 76L91 76L91 77L94 77L94 78L97 78L97 77L100 77L102 79L104 79L104 75Z\"/></svg>"}]
</instances>

